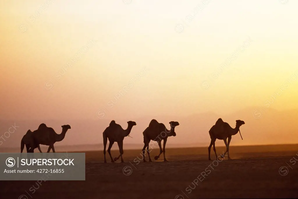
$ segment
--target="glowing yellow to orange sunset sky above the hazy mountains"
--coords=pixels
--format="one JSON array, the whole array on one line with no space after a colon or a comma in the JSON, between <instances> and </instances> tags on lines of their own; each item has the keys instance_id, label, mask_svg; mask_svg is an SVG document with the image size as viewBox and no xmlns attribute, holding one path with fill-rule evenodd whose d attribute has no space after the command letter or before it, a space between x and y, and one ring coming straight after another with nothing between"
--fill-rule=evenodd
<instances>
[{"instance_id":1,"label":"glowing yellow to orange sunset sky above the hazy mountains","mask_svg":"<svg viewBox=\"0 0 298 199\"><path fill-rule=\"evenodd\" d=\"M270 108L298 108L298 1L0 7L0 119L228 114L271 96Z\"/></svg>"}]
</instances>

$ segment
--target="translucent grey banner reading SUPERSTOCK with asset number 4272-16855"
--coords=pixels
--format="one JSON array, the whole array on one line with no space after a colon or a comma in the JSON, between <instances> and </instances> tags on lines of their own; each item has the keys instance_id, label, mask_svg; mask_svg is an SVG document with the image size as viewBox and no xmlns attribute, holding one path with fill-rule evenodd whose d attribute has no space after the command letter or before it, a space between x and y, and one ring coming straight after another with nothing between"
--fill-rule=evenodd
<instances>
[{"instance_id":1,"label":"translucent grey banner reading SUPERSTOCK with asset number 4272-16855","mask_svg":"<svg viewBox=\"0 0 298 199\"><path fill-rule=\"evenodd\" d=\"M0 180L85 180L85 153L0 153Z\"/></svg>"}]
</instances>

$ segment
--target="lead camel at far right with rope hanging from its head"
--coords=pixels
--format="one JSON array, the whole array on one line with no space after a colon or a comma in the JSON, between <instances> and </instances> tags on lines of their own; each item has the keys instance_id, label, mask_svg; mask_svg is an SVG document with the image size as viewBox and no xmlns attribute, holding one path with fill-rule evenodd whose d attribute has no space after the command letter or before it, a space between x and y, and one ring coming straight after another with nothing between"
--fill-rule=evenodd
<instances>
[{"instance_id":1,"label":"lead camel at far right with rope hanging from its head","mask_svg":"<svg viewBox=\"0 0 298 199\"><path fill-rule=\"evenodd\" d=\"M216 158L218 158L217 154L216 154L216 150L215 150L215 140L219 139L219 140L224 140L224 144L226 145L226 152L228 152L228 159L230 158L229 155L229 146L230 146L230 142L232 139L232 135L236 135L239 131L240 133L240 126L245 124L244 121L242 120L236 120L236 127L235 129L233 129L228 123L224 122L221 118L219 118L215 125L213 125L211 127L211 129L209 130L209 135L211 138L211 142L210 145L208 147L208 152L209 152L209 160L211 160L210 158L210 150L211 147L213 145L213 150L215 152ZM240 133L241 136L241 133ZM226 141L226 139L228 138L228 142ZM241 136L242 138L242 136ZM221 155L221 158L224 158L224 156L226 155L226 152Z\"/></svg>"}]
</instances>

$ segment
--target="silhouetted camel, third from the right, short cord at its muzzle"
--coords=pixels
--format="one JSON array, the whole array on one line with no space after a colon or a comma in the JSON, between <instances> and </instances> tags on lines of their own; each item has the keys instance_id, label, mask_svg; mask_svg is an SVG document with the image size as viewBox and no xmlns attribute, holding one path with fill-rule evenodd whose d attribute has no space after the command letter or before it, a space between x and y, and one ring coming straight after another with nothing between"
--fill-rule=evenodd
<instances>
[{"instance_id":1,"label":"silhouetted camel, third from the right, short cord at its muzzle","mask_svg":"<svg viewBox=\"0 0 298 199\"><path fill-rule=\"evenodd\" d=\"M131 129L133 126L136 125L136 122L134 121L128 121L127 122L128 127L127 129L122 129L122 127L119 124L116 124L114 120L110 122L110 125L103 131L103 155L105 157L105 148L107 146L107 141L109 139L109 147L108 147L108 154L110 155L111 162L117 161L121 157L121 162L124 162L122 155L123 155L123 140L126 136L129 136ZM120 155L117 158L112 158L111 155L111 148L114 144L114 142L117 142L119 147ZM107 163L106 159L104 163Z\"/></svg>"}]
</instances>

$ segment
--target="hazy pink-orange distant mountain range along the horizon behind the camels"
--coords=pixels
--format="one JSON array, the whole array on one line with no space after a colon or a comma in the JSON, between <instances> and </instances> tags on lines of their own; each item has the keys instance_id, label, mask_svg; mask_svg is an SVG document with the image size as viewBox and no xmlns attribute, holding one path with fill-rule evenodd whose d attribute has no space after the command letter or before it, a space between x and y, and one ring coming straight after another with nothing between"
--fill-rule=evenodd
<instances>
[{"instance_id":1,"label":"hazy pink-orange distant mountain range along the horizon behind the camels","mask_svg":"<svg viewBox=\"0 0 298 199\"><path fill-rule=\"evenodd\" d=\"M263 109L264 108L264 109ZM241 119L245 124L240 127L243 137L240 135L232 137L232 145L259 145L259 144L296 144L298 143L298 110L277 111L265 107L249 107L233 112L229 115L218 115L213 112L193 114L189 116L146 116L142 118L128 118L127 120L117 120L124 129L127 121L136 121L136 126L131 131L131 137L125 138L124 147L126 149L140 148L143 145L142 132L151 119L156 119L164 123L168 129L170 121L179 121L176 127L176 137L170 137L167 142L169 147L193 147L208 146L210 143L209 129L215 124L218 118L228 122L231 127L235 127L236 120ZM69 124L71 129L66 133L63 141L57 142L55 146L63 145L98 145L102 148L102 132L109 125L110 119L98 120L1 120L0 121L0 150L7 147L19 147L23 135L28 129L37 129L39 124L45 123L48 127L60 133L61 125ZM15 128L13 128L15 126ZM12 127L12 128L10 128ZM14 132L13 133L9 133ZM5 140L5 141L4 141ZM1 143L2 141L2 143ZM222 141L217 141L216 145L223 145ZM114 148L118 146L114 146ZM93 146L92 146L93 148Z\"/></svg>"}]
</instances>

